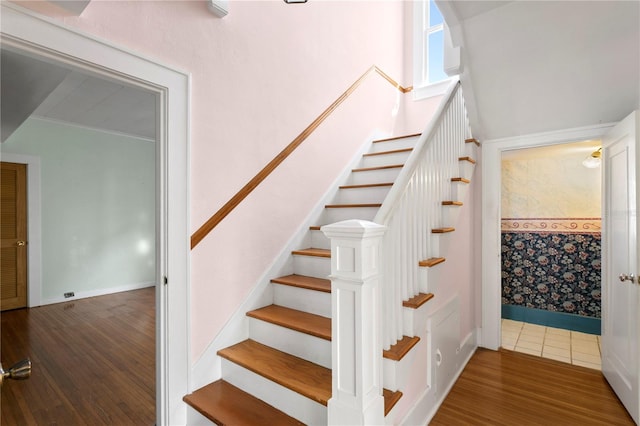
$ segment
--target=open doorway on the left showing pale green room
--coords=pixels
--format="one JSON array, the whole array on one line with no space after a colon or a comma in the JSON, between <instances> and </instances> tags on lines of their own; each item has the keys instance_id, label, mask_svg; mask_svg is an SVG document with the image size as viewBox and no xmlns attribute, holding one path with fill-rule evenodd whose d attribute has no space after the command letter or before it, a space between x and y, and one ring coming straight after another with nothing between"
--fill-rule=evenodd
<instances>
[{"instance_id":1,"label":"open doorway on the left showing pale green room","mask_svg":"<svg viewBox=\"0 0 640 426\"><path fill-rule=\"evenodd\" d=\"M2 65L13 106L2 110L2 160L29 175L18 247L29 253L29 307L0 314L2 363L33 363L30 380L4 384L2 420L153 423L157 95L4 46Z\"/></svg>"}]
</instances>

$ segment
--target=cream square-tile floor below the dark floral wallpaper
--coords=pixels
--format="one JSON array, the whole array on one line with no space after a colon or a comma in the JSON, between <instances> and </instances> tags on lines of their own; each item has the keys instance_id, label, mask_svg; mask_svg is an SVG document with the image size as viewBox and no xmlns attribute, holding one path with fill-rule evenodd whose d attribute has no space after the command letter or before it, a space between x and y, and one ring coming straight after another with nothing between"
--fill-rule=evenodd
<instances>
[{"instance_id":1,"label":"cream square-tile floor below the dark floral wallpaper","mask_svg":"<svg viewBox=\"0 0 640 426\"><path fill-rule=\"evenodd\" d=\"M502 347L582 367L601 369L600 336L502 320Z\"/></svg>"}]
</instances>

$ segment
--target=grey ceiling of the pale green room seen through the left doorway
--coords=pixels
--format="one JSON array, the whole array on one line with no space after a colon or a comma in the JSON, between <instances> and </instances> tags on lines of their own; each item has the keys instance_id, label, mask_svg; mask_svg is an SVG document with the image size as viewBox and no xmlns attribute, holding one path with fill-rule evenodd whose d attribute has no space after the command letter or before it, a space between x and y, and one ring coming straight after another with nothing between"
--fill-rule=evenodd
<instances>
[{"instance_id":1,"label":"grey ceiling of the pale green room seen through the left doorway","mask_svg":"<svg viewBox=\"0 0 640 426\"><path fill-rule=\"evenodd\" d=\"M0 59L3 142L28 118L155 140L153 93L6 49Z\"/></svg>"}]
</instances>

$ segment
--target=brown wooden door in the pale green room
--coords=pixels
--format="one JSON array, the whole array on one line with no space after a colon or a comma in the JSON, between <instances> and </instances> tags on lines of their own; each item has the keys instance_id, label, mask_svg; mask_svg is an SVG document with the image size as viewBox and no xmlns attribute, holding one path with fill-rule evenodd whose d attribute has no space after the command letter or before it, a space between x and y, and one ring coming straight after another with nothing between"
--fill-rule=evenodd
<instances>
[{"instance_id":1,"label":"brown wooden door in the pale green room","mask_svg":"<svg viewBox=\"0 0 640 426\"><path fill-rule=\"evenodd\" d=\"M0 310L27 306L27 166L0 164Z\"/></svg>"}]
</instances>

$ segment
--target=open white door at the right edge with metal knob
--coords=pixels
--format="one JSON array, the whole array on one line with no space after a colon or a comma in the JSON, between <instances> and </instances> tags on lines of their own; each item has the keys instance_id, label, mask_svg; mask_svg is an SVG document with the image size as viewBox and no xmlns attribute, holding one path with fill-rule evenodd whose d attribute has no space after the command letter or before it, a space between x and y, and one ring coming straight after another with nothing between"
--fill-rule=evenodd
<instances>
[{"instance_id":1,"label":"open white door at the right edge with metal knob","mask_svg":"<svg viewBox=\"0 0 640 426\"><path fill-rule=\"evenodd\" d=\"M636 111L602 140L602 372L636 423L640 420L637 125Z\"/></svg>"}]
</instances>

